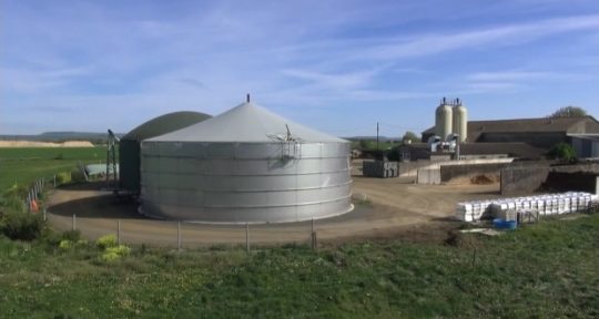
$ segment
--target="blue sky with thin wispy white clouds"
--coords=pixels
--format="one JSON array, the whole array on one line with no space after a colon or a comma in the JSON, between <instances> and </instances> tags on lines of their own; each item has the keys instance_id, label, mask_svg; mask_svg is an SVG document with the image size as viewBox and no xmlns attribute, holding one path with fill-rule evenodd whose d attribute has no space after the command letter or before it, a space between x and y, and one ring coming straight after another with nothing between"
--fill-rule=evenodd
<instances>
[{"instance_id":1,"label":"blue sky with thin wispy white clouds","mask_svg":"<svg viewBox=\"0 0 599 319\"><path fill-rule=\"evenodd\" d=\"M341 136L599 116L599 1L0 0L0 134L128 132L254 102Z\"/></svg>"}]
</instances>

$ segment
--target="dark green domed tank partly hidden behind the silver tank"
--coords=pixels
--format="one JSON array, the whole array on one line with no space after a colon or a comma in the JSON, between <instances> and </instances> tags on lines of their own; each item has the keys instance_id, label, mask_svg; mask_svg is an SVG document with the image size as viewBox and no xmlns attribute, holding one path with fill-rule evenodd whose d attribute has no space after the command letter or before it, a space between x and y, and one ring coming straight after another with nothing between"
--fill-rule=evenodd
<instances>
[{"instance_id":1,"label":"dark green domed tank partly hidden behind the silver tank","mask_svg":"<svg viewBox=\"0 0 599 319\"><path fill-rule=\"evenodd\" d=\"M210 115L200 112L173 112L154 117L126 133L119 143L121 188L133 194L140 193L141 141L200 123L210 117Z\"/></svg>"}]
</instances>

